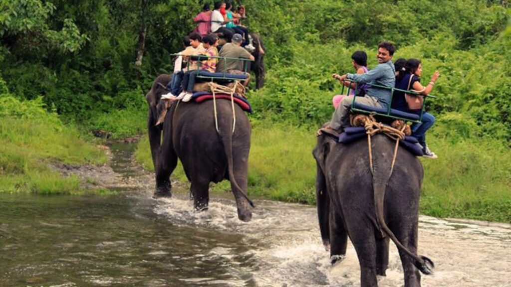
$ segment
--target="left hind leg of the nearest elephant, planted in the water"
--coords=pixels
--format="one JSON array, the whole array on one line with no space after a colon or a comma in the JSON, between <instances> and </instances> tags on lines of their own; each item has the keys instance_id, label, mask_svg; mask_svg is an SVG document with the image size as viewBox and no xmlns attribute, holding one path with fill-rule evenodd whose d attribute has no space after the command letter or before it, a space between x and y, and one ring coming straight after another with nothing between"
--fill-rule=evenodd
<instances>
[{"instance_id":1,"label":"left hind leg of the nearest elephant, planted in the water","mask_svg":"<svg viewBox=\"0 0 511 287\"><path fill-rule=\"evenodd\" d=\"M363 216L362 216L363 217ZM377 287L376 278L376 238L373 224L359 217L357 226L350 229L350 237L357 251L360 263L360 286ZM353 232L352 232L353 230Z\"/></svg>"}]
</instances>

